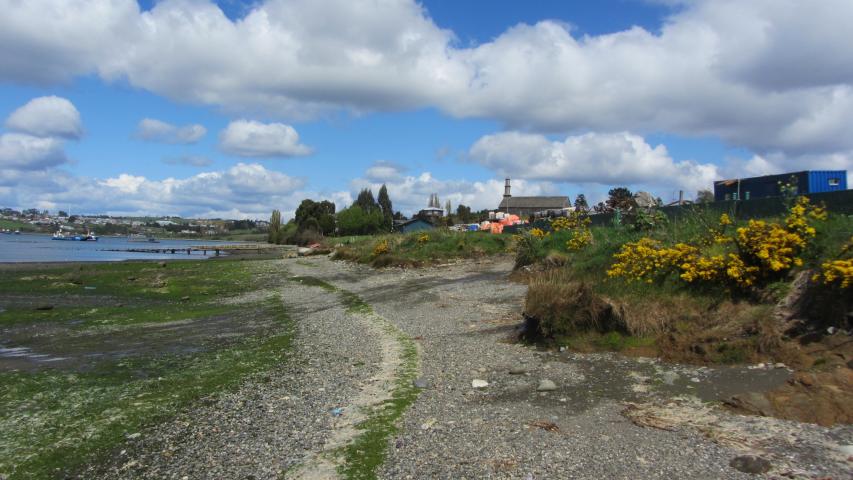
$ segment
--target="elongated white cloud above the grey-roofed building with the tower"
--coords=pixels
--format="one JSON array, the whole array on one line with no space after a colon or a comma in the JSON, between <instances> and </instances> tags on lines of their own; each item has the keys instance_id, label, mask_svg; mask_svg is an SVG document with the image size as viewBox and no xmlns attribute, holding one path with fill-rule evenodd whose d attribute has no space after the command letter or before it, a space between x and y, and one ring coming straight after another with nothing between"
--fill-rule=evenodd
<instances>
[{"instance_id":1,"label":"elongated white cloud above the grey-roofed building with the tower","mask_svg":"<svg viewBox=\"0 0 853 480\"><path fill-rule=\"evenodd\" d=\"M586 133L558 141L503 132L477 140L469 155L510 177L574 184L665 185L696 191L709 188L719 175L716 165L677 162L664 145L652 147L627 132Z\"/></svg>"}]
</instances>

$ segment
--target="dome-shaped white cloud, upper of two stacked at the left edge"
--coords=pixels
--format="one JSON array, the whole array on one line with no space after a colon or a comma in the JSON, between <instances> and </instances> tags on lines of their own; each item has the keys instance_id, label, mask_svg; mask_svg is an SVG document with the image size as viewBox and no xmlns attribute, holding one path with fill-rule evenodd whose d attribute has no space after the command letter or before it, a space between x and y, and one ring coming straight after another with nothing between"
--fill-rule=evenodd
<instances>
[{"instance_id":1,"label":"dome-shaped white cloud, upper of two stacked at the left edge","mask_svg":"<svg viewBox=\"0 0 853 480\"><path fill-rule=\"evenodd\" d=\"M74 104L56 96L30 100L9 115L6 128L39 137L77 139L83 135L80 112Z\"/></svg>"}]
</instances>

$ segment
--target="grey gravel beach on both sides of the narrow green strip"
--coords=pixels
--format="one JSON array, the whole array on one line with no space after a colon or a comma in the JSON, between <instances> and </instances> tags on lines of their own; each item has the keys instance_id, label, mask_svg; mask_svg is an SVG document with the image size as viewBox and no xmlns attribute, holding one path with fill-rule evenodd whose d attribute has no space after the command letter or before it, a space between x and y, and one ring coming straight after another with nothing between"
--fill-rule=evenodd
<instances>
[{"instance_id":1,"label":"grey gravel beach on both sides of the narrow green strip","mask_svg":"<svg viewBox=\"0 0 853 480\"><path fill-rule=\"evenodd\" d=\"M376 271L313 257L264 268L351 291L379 317L290 282L281 289L298 329L290 362L143 432L85 478L334 477L328 454L355 434L353 407L384 398L399 362L377 318L417 342L426 383L388 442L381 478L754 478L730 466L745 453L770 459L768 478L850 478L839 450L853 443L850 427L738 417L656 386L698 369L508 341L525 292L507 279L508 261ZM554 388L537 391L543 380ZM335 417L336 407L348 409Z\"/></svg>"}]
</instances>

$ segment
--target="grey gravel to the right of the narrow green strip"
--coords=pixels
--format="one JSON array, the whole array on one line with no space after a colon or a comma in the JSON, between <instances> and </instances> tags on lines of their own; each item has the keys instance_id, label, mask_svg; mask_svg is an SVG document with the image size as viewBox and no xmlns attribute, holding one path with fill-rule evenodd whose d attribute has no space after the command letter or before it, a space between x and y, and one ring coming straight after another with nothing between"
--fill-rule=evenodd
<instances>
[{"instance_id":1,"label":"grey gravel to the right of the narrow green strip","mask_svg":"<svg viewBox=\"0 0 853 480\"><path fill-rule=\"evenodd\" d=\"M289 268L359 294L419 343L430 386L389 443L383 478L752 478L730 466L745 453L770 458L770 475L850 477L837 449L853 443L849 427L719 409L691 423L694 403L670 403L640 373L665 375L659 362L601 356L604 375L594 379L568 353L507 342L525 291L507 280L509 262L375 271L311 259ZM556 390L538 392L543 379ZM488 386L473 388L474 380ZM666 404L668 430L633 423L622 414L627 402Z\"/></svg>"}]
</instances>

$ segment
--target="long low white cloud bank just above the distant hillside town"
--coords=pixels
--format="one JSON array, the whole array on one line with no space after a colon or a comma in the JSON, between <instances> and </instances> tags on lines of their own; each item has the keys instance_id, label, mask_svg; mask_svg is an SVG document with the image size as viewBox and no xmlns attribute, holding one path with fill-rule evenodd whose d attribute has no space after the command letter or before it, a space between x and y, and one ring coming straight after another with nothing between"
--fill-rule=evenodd
<instances>
[{"instance_id":1,"label":"long low white cloud bank just above the distant hillside town","mask_svg":"<svg viewBox=\"0 0 853 480\"><path fill-rule=\"evenodd\" d=\"M15 188L3 193L2 187L8 184L4 179L16 182ZM93 179L61 170L24 176L0 169L0 204L70 206L80 212L103 212L108 206L107 212L116 214L266 218L274 208L292 215L299 201L313 193L304 186L303 179L246 163L163 180L132 174Z\"/></svg>"}]
</instances>

